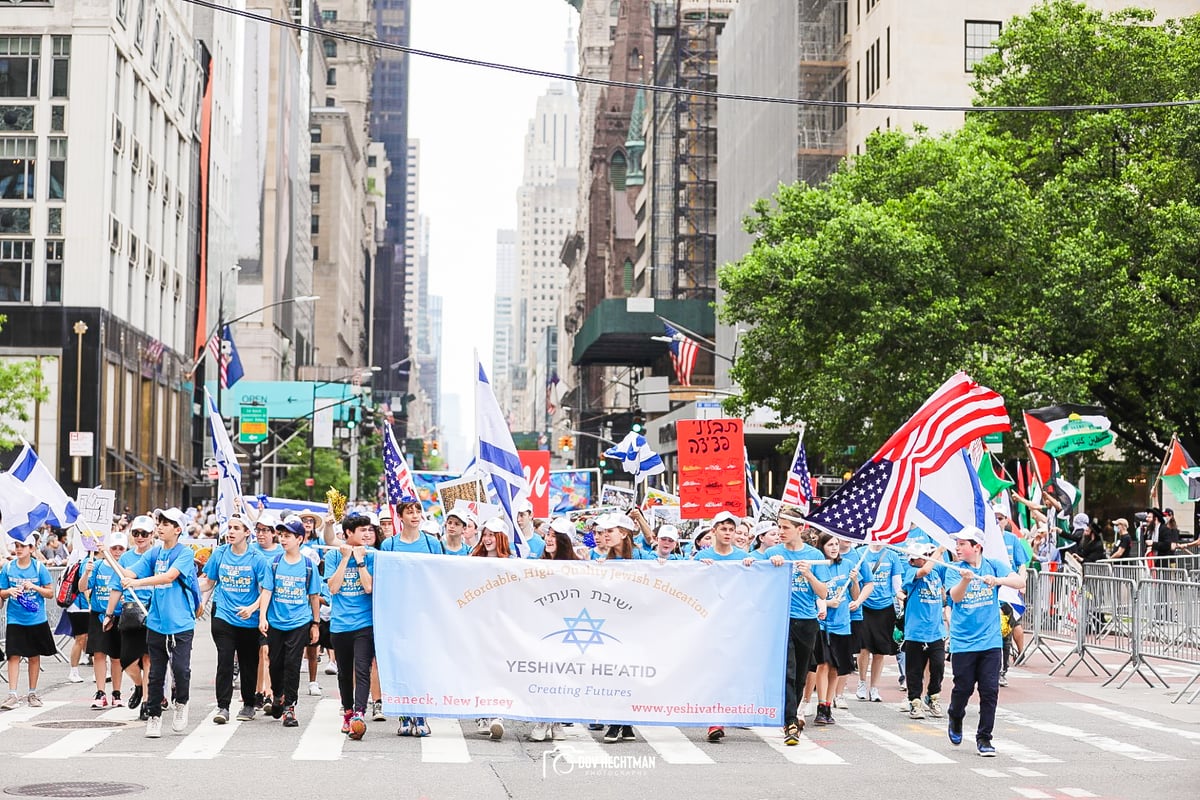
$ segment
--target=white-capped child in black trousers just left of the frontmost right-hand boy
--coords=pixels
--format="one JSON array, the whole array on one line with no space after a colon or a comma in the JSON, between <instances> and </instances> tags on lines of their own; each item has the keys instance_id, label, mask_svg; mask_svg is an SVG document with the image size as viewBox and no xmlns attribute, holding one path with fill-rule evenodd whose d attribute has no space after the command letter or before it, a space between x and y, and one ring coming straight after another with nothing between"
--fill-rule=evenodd
<instances>
[{"instance_id":1,"label":"white-capped child in black trousers just left of the frontmost right-hand boy","mask_svg":"<svg viewBox=\"0 0 1200 800\"><path fill-rule=\"evenodd\" d=\"M946 548L911 545L913 552L905 567L900 597L904 613L905 678L908 717L942 716L942 679L946 675ZM928 703L922 702L925 668L929 667Z\"/></svg>"}]
</instances>

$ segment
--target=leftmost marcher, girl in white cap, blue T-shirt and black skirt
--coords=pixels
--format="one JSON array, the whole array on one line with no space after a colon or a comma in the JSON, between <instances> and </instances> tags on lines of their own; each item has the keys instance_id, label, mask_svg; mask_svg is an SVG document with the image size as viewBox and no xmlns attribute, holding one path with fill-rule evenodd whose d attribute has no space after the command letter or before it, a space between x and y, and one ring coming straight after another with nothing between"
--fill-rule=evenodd
<instances>
[{"instance_id":1,"label":"leftmost marcher, girl in white cap, blue T-shirt and black skirt","mask_svg":"<svg viewBox=\"0 0 1200 800\"><path fill-rule=\"evenodd\" d=\"M20 679L20 660L29 662L29 693L25 703L41 708L37 696L37 676L42 670L42 656L58 652L54 634L46 616L46 601L54 596L54 578L46 565L34 558L35 545L18 541L17 558L0 567L0 597L8 599L8 625L5 645L8 656L8 699L0 710L11 711L20 703L17 681Z\"/></svg>"}]
</instances>

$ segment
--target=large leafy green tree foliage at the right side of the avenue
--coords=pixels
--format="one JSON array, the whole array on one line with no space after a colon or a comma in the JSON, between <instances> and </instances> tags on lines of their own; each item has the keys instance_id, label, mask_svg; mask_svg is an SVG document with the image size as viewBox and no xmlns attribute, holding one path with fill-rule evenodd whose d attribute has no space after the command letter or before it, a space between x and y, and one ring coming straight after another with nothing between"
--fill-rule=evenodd
<instances>
[{"instance_id":1,"label":"large leafy green tree foliage at the right side of the avenue","mask_svg":"<svg viewBox=\"0 0 1200 800\"><path fill-rule=\"evenodd\" d=\"M1152 26L1054 0L976 67L982 106L1194 98L1200 18ZM809 423L827 463L874 451L956 369L1019 413L1100 403L1157 462L1200 450L1200 108L972 113L874 136L821 186L781 187L721 271L752 324L737 404Z\"/></svg>"}]
</instances>

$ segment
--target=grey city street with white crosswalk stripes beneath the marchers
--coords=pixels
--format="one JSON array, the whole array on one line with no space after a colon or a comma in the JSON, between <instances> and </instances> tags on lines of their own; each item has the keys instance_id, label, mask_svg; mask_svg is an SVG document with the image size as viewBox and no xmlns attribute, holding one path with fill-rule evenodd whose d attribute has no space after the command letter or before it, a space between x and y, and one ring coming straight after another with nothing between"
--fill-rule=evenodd
<instances>
[{"instance_id":1,"label":"grey city street with white crosswalk stripes beneath the marchers","mask_svg":"<svg viewBox=\"0 0 1200 800\"><path fill-rule=\"evenodd\" d=\"M372 723L362 741L348 741L338 733L336 679L323 670L325 696L301 698L299 729L270 718L216 726L214 658L203 626L191 721L184 734L173 734L168 714L158 740L143 738L144 726L131 722L136 712L92 711L91 682L67 684L66 667L49 663L46 705L0 715L0 790L29 796L32 783L96 781L137 784L122 796L174 800L229 793L434 800L635 792L661 798L836 793L1164 800L1193 798L1200 786L1200 702L1172 705L1174 692L1134 681L1123 690L1104 688L1084 667L1072 678L1062 672L1048 676L1044 658L1009 672L1010 685L1001 690L995 759L978 757L970 746L973 709L958 748L947 741L943 720L899 714L894 669L884 703L859 702L851 693L850 708L834 712L838 724L810 723L798 747L784 747L775 729L731 728L724 742L713 745L703 729L674 727L640 727L637 741L604 745L600 733L577 724L566 728L568 739L556 752L551 742L527 741L530 726L524 722L510 722L502 741L476 735L474 720L434 720L427 739L398 738L395 721ZM1115 656L1109 661L1111 668L1120 663ZM1181 666L1159 667L1176 687L1189 676ZM80 721L113 727L74 728Z\"/></svg>"}]
</instances>

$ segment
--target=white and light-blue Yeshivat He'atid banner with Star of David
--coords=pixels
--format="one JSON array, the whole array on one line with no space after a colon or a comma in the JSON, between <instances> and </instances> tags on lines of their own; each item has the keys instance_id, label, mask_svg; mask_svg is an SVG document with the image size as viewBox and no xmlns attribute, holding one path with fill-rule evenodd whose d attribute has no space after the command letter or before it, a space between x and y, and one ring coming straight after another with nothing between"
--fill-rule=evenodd
<instances>
[{"instance_id":1,"label":"white and light-blue Yeshivat He'atid banner with Star of David","mask_svg":"<svg viewBox=\"0 0 1200 800\"><path fill-rule=\"evenodd\" d=\"M791 571L378 553L389 716L778 726Z\"/></svg>"}]
</instances>

